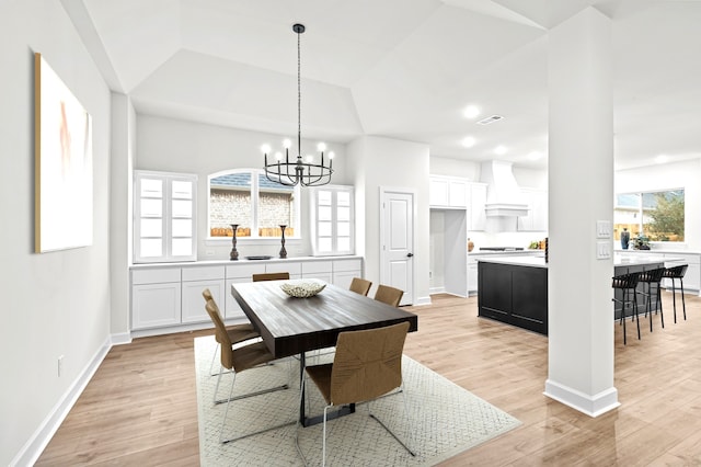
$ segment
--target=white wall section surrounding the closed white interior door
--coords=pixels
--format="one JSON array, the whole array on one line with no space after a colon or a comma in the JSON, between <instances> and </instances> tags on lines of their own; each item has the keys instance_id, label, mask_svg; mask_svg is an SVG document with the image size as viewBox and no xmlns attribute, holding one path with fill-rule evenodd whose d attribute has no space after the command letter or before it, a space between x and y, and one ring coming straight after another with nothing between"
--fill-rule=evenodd
<instances>
[{"instance_id":1,"label":"white wall section surrounding the closed white interior door","mask_svg":"<svg viewBox=\"0 0 701 467\"><path fill-rule=\"evenodd\" d=\"M360 254L365 255L366 278L374 284L380 281L380 187L414 190L414 303L429 303L428 146L366 136L348 145L347 153L356 187L356 238L364 239Z\"/></svg>"}]
</instances>

